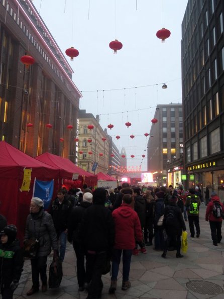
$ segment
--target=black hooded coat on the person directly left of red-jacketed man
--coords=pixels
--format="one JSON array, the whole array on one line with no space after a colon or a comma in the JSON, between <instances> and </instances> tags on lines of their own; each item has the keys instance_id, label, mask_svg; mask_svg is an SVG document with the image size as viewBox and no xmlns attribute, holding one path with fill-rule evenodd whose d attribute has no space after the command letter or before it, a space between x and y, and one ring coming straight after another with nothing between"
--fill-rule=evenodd
<instances>
[{"instance_id":1,"label":"black hooded coat on the person directly left of red-jacketed man","mask_svg":"<svg viewBox=\"0 0 224 299\"><path fill-rule=\"evenodd\" d=\"M112 250L115 243L115 223L109 209L93 204L85 210L80 225L80 240L84 252Z\"/></svg>"}]
</instances>

